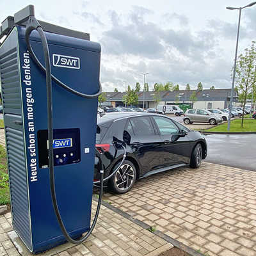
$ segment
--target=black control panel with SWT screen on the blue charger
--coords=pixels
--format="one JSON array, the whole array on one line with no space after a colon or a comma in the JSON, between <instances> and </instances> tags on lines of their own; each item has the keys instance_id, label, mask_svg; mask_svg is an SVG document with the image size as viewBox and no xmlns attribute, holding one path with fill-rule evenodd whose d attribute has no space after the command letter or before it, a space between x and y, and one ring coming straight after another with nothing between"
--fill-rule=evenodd
<instances>
[{"instance_id":1,"label":"black control panel with SWT screen on the blue charger","mask_svg":"<svg viewBox=\"0 0 256 256\"><path fill-rule=\"evenodd\" d=\"M48 132L37 132L39 167L48 167ZM53 130L54 166L79 163L81 160L80 131L78 128Z\"/></svg>"}]
</instances>

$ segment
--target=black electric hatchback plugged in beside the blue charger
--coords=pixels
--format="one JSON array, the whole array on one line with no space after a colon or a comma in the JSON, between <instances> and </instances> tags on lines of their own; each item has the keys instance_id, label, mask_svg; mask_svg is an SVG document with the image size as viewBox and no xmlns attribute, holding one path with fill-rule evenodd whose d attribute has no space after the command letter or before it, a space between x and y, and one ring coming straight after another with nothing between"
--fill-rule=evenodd
<instances>
[{"instance_id":1,"label":"black electric hatchback plugged in beside the blue charger","mask_svg":"<svg viewBox=\"0 0 256 256\"><path fill-rule=\"evenodd\" d=\"M96 148L107 177L122 161L124 150L113 146L113 137L126 143L127 156L108 180L109 189L121 194L136 179L189 164L198 168L207 156L204 136L167 116L151 113L107 113L97 120ZM99 179L95 158L95 180Z\"/></svg>"}]
</instances>

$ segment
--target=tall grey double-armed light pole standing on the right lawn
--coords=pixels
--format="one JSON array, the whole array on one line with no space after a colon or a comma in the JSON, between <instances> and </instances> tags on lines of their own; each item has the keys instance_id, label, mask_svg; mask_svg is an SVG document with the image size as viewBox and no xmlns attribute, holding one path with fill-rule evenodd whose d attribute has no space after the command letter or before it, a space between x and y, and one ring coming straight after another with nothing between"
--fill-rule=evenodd
<instances>
[{"instance_id":1,"label":"tall grey double-armed light pole standing on the right lawn","mask_svg":"<svg viewBox=\"0 0 256 256\"><path fill-rule=\"evenodd\" d=\"M237 37L236 37L236 54L235 54L235 61L234 61L234 70L233 70L233 77L232 77L232 88L231 88L231 95L230 95L230 104L229 104L229 114L228 114L228 131L230 130L230 121L231 121L231 109L233 106L233 94L234 94L234 84L235 84L235 77L236 77L236 58L237 58L237 48L238 48L238 39L239 39L239 29L240 29L240 20L241 20L241 11L246 7L250 7L256 4L256 2L247 4L243 7L226 7L228 10L239 10L239 19L238 19L238 28L237 28Z\"/></svg>"}]
</instances>

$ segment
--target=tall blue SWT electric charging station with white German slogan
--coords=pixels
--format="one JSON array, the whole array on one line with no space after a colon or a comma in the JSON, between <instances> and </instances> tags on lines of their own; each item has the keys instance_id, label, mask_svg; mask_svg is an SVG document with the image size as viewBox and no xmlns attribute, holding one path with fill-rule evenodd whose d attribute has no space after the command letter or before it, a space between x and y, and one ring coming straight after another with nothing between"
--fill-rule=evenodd
<instances>
[{"instance_id":1,"label":"tall blue SWT electric charging station with white German slogan","mask_svg":"<svg viewBox=\"0 0 256 256\"><path fill-rule=\"evenodd\" d=\"M0 74L13 228L33 253L80 243L97 221L90 228L100 45L86 33L38 22L31 5L4 20L4 35Z\"/></svg>"}]
</instances>

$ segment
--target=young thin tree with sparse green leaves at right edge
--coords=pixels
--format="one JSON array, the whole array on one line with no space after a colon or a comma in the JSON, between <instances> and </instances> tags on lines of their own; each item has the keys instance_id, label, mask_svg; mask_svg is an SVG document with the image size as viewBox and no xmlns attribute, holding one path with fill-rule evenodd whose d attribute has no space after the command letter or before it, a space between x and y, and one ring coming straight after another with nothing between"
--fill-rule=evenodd
<instances>
[{"instance_id":1,"label":"young thin tree with sparse green leaves at right edge","mask_svg":"<svg viewBox=\"0 0 256 256\"><path fill-rule=\"evenodd\" d=\"M239 99L243 104L243 115L241 127L244 124L244 108L248 94L256 84L256 47L255 41L252 41L250 49L244 49L244 53L237 58L236 66L236 86L239 93ZM232 68L234 70L234 67Z\"/></svg>"}]
</instances>

